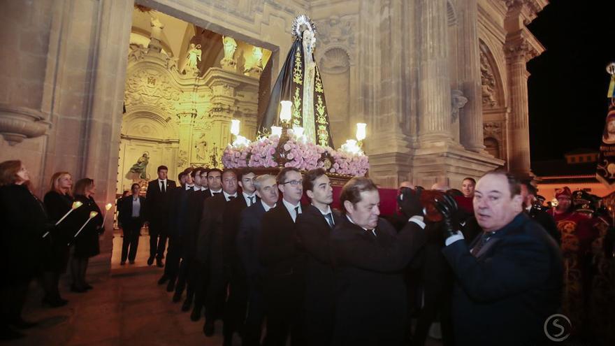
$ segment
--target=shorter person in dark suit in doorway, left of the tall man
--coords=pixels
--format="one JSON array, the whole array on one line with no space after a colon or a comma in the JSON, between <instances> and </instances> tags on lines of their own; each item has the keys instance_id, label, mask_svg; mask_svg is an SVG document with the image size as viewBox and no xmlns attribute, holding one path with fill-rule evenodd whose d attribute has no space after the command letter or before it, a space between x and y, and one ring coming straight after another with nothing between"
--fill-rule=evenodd
<instances>
[{"instance_id":1,"label":"shorter person in dark suit in doorway, left of the tall man","mask_svg":"<svg viewBox=\"0 0 615 346\"><path fill-rule=\"evenodd\" d=\"M124 238L122 239L122 259L120 264L126 264L128 258L130 264L134 264L141 227L145 222L146 206L145 197L139 196L140 185L135 182L131 187L131 196L126 196L120 204L118 219L122 224ZM130 253L129 253L130 248Z\"/></svg>"}]
</instances>

